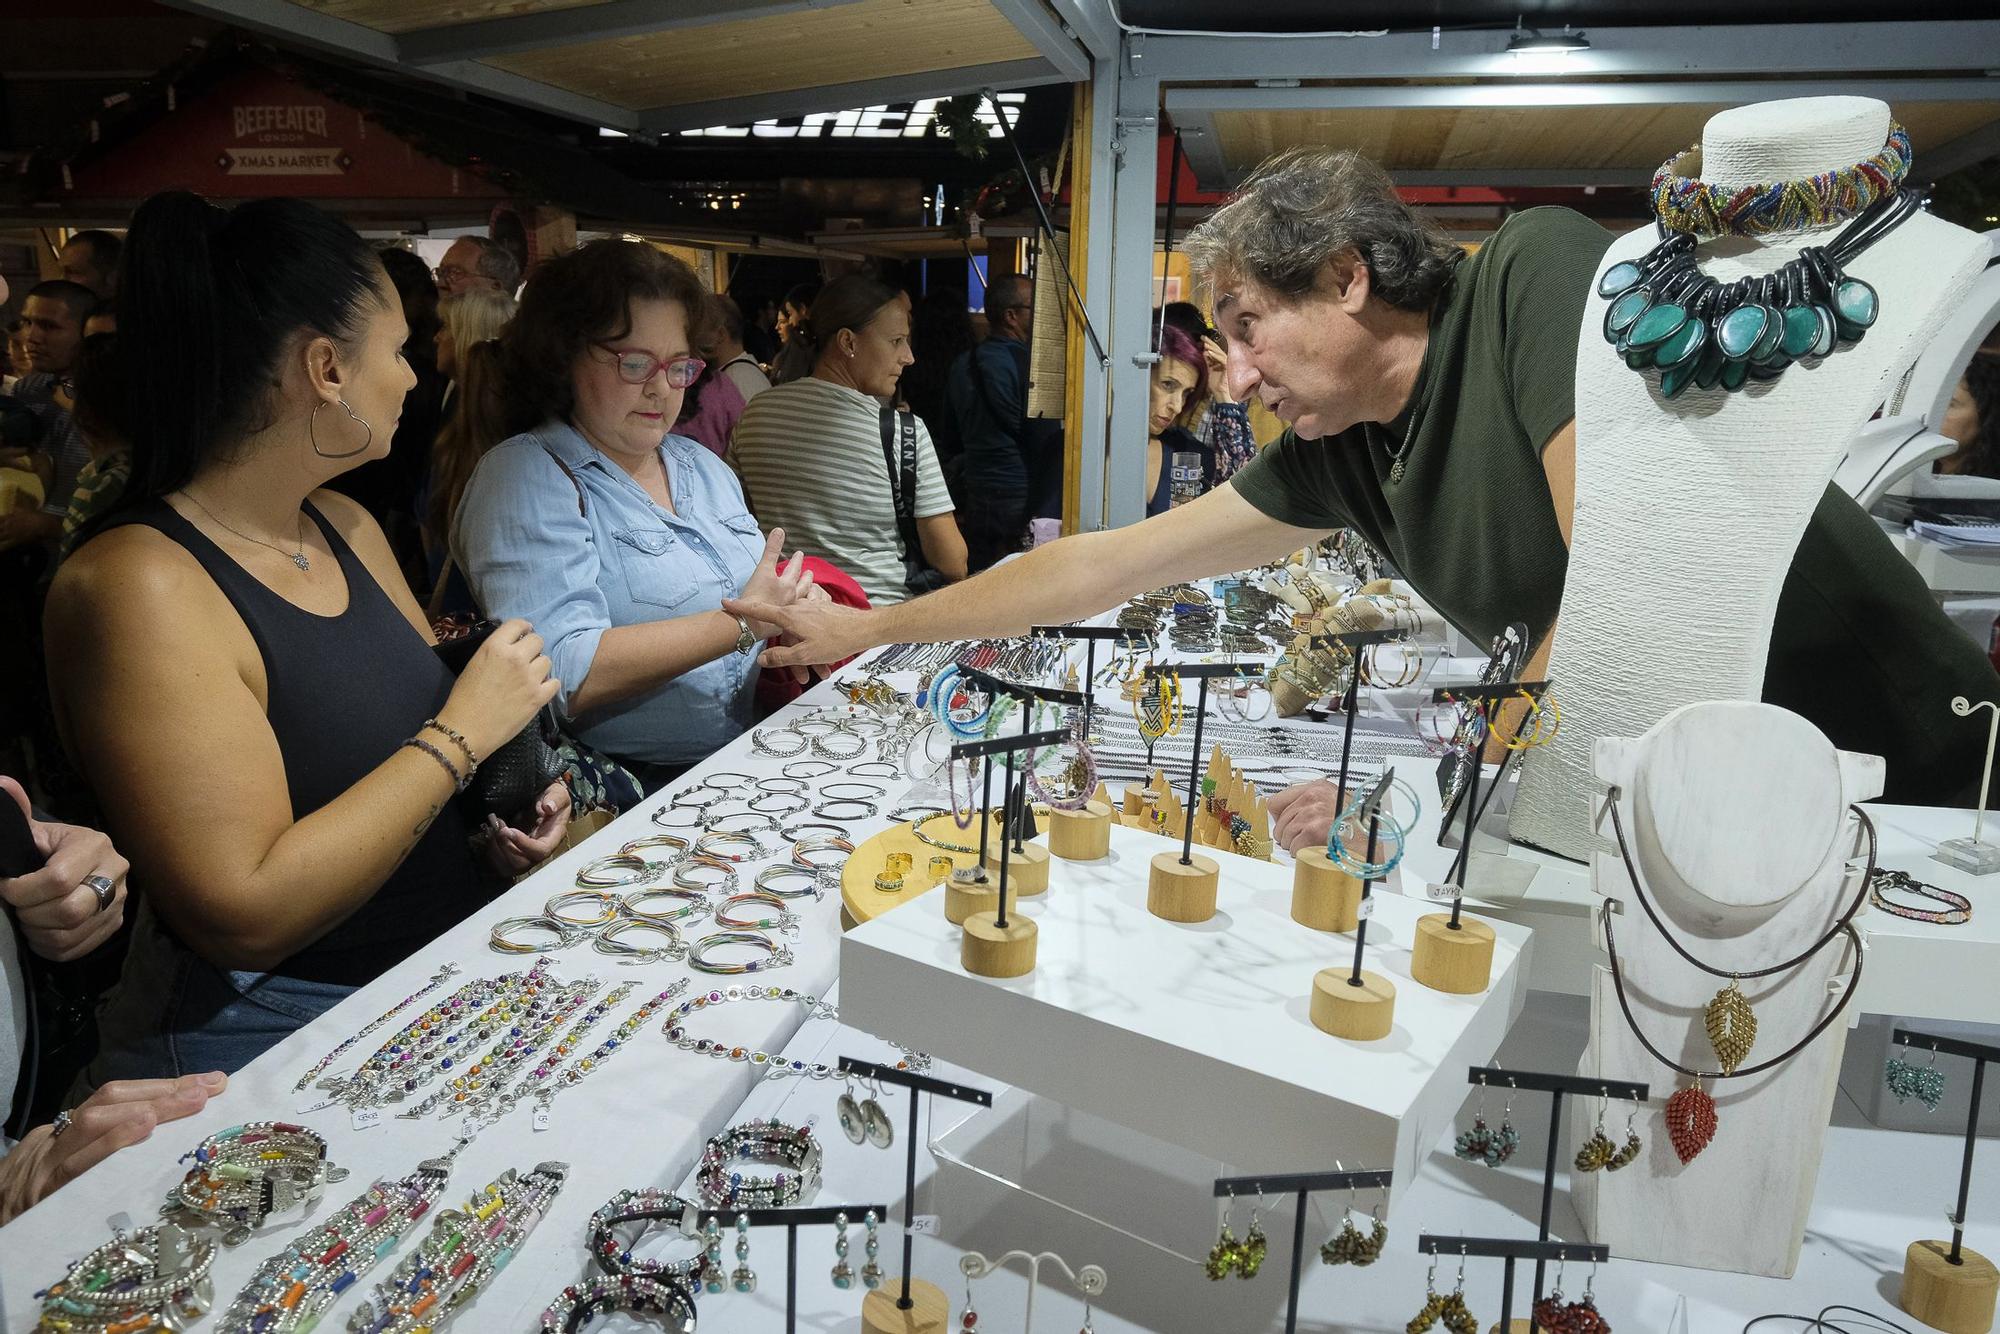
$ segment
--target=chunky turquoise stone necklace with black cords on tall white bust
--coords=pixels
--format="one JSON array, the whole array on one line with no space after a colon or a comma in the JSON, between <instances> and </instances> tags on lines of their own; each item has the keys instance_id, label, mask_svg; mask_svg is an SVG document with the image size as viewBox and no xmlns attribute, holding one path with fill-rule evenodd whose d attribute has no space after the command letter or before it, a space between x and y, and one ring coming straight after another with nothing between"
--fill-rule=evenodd
<instances>
[{"instance_id":1,"label":"chunky turquoise stone necklace with black cords on tall white bust","mask_svg":"<svg viewBox=\"0 0 2000 1334\"><path fill-rule=\"evenodd\" d=\"M1792 362L1818 362L1860 342L1882 308L1876 290L1846 264L1918 208L1910 190L1886 194L1826 246L1806 246L1774 274L1718 282L1696 266L1692 232L1668 232L1644 258L1620 260L1598 278L1604 342L1626 366L1660 372L1660 394L1740 390L1776 380Z\"/></svg>"}]
</instances>

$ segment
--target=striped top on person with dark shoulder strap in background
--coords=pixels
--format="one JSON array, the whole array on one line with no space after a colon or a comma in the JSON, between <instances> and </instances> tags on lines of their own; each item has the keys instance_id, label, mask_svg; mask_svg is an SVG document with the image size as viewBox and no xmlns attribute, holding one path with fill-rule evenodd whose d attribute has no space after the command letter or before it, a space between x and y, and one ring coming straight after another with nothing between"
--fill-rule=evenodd
<instances>
[{"instance_id":1,"label":"striped top on person with dark shoulder strap in background","mask_svg":"<svg viewBox=\"0 0 2000 1334\"><path fill-rule=\"evenodd\" d=\"M766 530L784 528L786 550L840 566L874 606L910 596L876 398L816 376L772 386L744 408L728 458L750 512ZM918 420L916 518L950 512L952 494Z\"/></svg>"}]
</instances>

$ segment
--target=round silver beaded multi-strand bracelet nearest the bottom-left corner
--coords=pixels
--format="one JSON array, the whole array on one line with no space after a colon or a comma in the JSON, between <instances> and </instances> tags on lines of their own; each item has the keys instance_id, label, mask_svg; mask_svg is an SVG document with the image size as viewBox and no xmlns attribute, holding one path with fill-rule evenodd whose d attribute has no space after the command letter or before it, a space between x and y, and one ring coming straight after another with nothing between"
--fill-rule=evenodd
<instances>
[{"instance_id":1,"label":"round silver beaded multi-strand bracelet nearest the bottom-left corner","mask_svg":"<svg viewBox=\"0 0 2000 1334\"><path fill-rule=\"evenodd\" d=\"M36 1296L36 1330L180 1330L214 1304L216 1244L170 1222L118 1230Z\"/></svg>"}]
</instances>

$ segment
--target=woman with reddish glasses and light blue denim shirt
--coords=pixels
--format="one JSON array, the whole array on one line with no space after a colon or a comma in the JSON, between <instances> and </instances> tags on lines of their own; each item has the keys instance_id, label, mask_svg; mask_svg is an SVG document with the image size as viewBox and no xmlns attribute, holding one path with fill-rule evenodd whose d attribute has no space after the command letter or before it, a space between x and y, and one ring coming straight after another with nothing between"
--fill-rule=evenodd
<instances>
[{"instance_id":1,"label":"woman with reddish glasses and light blue denim shirt","mask_svg":"<svg viewBox=\"0 0 2000 1334\"><path fill-rule=\"evenodd\" d=\"M452 520L486 616L530 616L576 734L656 788L750 724L772 626L722 612L750 590L790 604L812 578L778 554L728 466L672 434L704 310L652 246L598 240L546 260L500 338L502 418ZM738 590L744 590L738 594Z\"/></svg>"}]
</instances>

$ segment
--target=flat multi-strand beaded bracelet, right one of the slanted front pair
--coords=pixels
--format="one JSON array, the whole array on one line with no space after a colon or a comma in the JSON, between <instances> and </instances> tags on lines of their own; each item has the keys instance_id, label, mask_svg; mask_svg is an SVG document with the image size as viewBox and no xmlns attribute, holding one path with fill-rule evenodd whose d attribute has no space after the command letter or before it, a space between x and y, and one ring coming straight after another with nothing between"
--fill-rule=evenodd
<instances>
[{"instance_id":1,"label":"flat multi-strand beaded bracelet, right one of the slanted front pair","mask_svg":"<svg viewBox=\"0 0 2000 1334\"><path fill-rule=\"evenodd\" d=\"M442 1210L422 1244L348 1318L352 1334L434 1334L478 1298L562 1190L570 1168L544 1162L526 1176L508 1168L464 1210Z\"/></svg>"}]
</instances>

